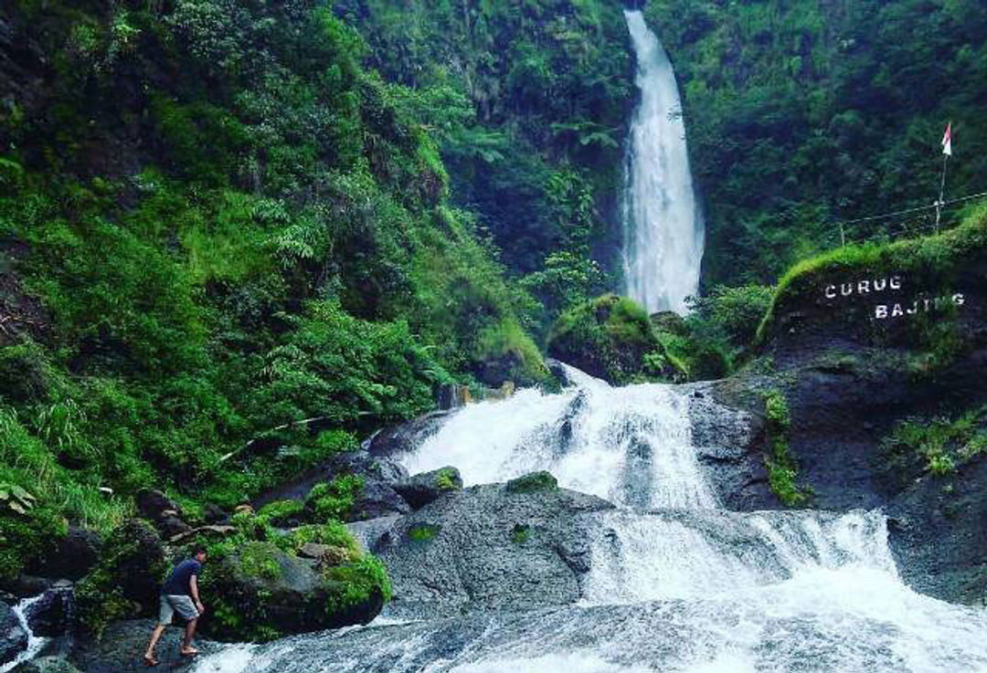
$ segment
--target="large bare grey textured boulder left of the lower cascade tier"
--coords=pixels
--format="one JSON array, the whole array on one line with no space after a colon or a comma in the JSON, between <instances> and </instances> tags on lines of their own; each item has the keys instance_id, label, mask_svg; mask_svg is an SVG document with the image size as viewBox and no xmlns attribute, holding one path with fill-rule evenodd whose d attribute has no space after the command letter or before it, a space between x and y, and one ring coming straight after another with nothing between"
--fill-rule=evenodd
<instances>
[{"instance_id":1,"label":"large bare grey textured boulder left of the lower cascade tier","mask_svg":"<svg viewBox=\"0 0 987 673\"><path fill-rule=\"evenodd\" d=\"M356 534L388 567L388 614L531 609L580 598L590 555L583 519L612 507L566 489L472 486Z\"/></svg>"}]
</instances>

